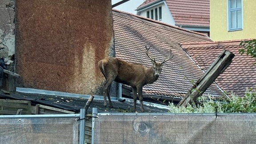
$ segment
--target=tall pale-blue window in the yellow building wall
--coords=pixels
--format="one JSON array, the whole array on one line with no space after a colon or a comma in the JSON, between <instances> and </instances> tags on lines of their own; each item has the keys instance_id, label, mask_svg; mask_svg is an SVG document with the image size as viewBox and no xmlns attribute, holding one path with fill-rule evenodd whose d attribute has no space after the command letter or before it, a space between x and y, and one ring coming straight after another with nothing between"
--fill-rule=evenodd
<instances>
[{"instance_id":1,"label":"tall pale-blue window in the yellow building wall","mask_svg":"<svg viewBox=\"0 0 256 144\"><path fill-rule=\"evenodd\" d=\"M228 30L243 28L242 0L228 0Z\"/></svg>"}]
</instances>

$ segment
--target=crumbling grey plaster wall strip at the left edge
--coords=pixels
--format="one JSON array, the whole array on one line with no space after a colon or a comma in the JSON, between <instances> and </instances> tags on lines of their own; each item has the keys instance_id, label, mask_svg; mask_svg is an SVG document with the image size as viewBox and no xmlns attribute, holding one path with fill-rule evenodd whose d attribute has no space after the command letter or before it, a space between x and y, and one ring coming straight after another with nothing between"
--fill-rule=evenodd
<instances>
[{"instance_id":1,"label":"crumbling grey plaster wall strip at the left edge","mask_svg":"<svg viewBox=\"0 0 256 144\"><path fill-rule=\"evenodd\" d=\"M0 58L13 63L15 53L14 0L0 0Z\"/></svg>"}]
</instances>

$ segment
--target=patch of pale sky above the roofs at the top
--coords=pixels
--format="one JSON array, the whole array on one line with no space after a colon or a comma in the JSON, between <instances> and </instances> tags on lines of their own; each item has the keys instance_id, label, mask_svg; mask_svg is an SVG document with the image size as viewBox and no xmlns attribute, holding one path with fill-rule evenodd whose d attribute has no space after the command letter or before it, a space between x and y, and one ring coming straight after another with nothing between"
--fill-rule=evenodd
<instances>
[{"instance_id":1,"label":"patch of pale sky above the roofs at the top","mask_svg":"<svg viewBox=\"0 0 256 144\"><path fill-rule=\"evenodd\" d=\"M112 5L120 2L122 0L112 0ZM124 4L120 4L119 6L116 6L114 9L129 12L132 14L136 14L135 9L142 4L144 0L129 0L125 2Z\"/></svg>"}]
</instances>

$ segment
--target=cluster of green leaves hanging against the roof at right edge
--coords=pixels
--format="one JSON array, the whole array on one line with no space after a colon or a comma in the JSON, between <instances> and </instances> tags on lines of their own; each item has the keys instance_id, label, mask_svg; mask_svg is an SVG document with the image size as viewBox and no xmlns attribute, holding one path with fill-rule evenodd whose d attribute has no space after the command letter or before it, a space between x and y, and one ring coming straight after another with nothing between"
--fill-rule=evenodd
<instances>
[{"instance_id":1,"label":"cluster of green leaves hanging against the roof at right edge","mask_svg":"<svg viewBox=\"0 0 256 144\"><path fill-rule=\"evenodd\" d=\"M241 55L246 53L246 56L256 58L256 39L241 41L240 46L243 47L239 50Z\"/></svg>"}]
</instances>

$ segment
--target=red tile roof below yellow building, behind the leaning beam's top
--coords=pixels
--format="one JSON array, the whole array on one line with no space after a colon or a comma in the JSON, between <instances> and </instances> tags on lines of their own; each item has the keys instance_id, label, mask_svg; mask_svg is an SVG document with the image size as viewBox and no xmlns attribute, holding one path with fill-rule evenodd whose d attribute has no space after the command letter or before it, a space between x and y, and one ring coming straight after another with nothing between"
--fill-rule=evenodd
<instances>
[{"instance_id":1,"label":"red tile roof below yellow building, behind the leaning beam's top","mask_svg":"<svg viewBox=\"0 0 256 144\"><path fill-rule=\"evenodd\" d=\"M241 40L182 43L202 70L206 70L224 49L235 54L229 67L216 79L216 83L226 92L244 96L247 87L256 86L256 59L239 54Z\"/></svg>"}]
</instances>

